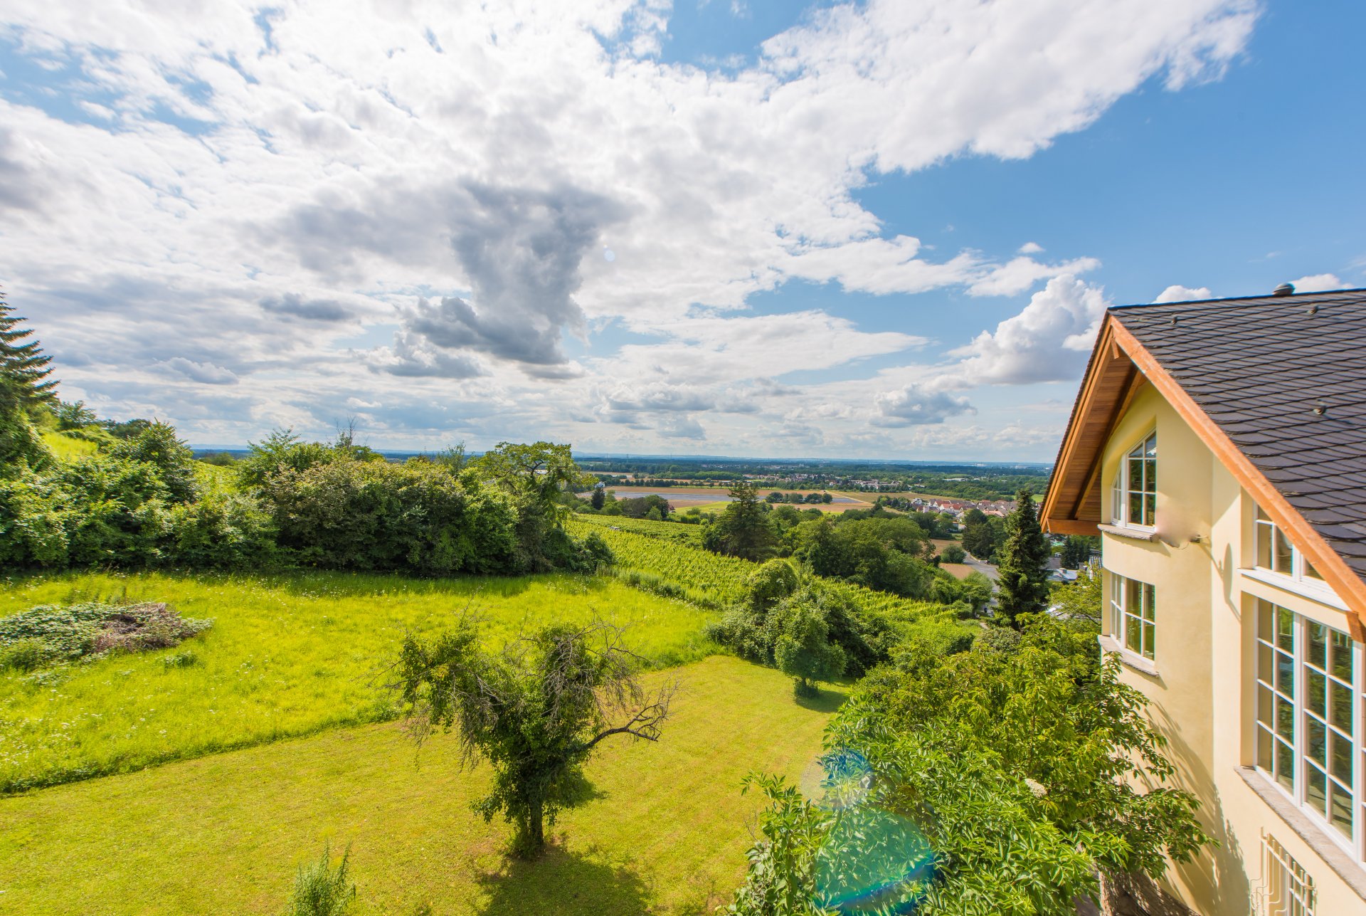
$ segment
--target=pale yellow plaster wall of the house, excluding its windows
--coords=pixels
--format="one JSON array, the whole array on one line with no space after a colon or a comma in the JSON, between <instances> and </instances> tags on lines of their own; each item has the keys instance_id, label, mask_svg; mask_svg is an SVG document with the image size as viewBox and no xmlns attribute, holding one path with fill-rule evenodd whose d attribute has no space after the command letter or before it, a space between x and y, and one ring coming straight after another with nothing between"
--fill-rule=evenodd
<instances>
[{"instance_id":1,"label":"pale yellow plaster wall of the house, excluding its windows","mask_svg":"<svg viewBox=\"0 0 1366 916\"><path fill-rule=\"evenodd\" d=\"M1160 539L1102 537L1105 596L1108 602L1112 573L1156 588L1156 674L1126 666L1123 679L1149 697L1149 715L1171 742L1175 785L1199 798L1205 830L1220 844L1191 863L1175 864L1164 883L1198 913L1251 913L1265 831L1314 878L1318 916L1366 915L1366 901L1238 771L1251 766L1255 753L1254 596L1343 630L1346 614L1239 574L1239 567L1253 565L1253 503L1152 386L1135 396L1106 444L1101 470L1106 521L1109 488L1120 461L1154 428ZM1105 610L1102 626L1108 632Z\"/></svg>"}]
</instances>

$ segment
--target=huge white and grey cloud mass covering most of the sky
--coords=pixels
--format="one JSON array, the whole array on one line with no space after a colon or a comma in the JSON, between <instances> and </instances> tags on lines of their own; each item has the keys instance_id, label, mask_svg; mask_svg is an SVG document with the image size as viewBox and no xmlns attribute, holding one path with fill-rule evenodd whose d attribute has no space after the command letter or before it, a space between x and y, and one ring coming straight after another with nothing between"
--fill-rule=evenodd
<instances>
[{"instance_id":1,"label":"huge white and grey cloud mass covering most of the sky","mask_svg":"<svg viewBox=\"0 0 1366 916\"><path fill-rule=\"evenodd\" d=\"M15 0L0 29L38 66L79 70L70 108L94 123L0 97L8 291L42 314L72 387L190 436L307 429L367 366L365 401L396 435L469 422L582 439L596 392L615 391L639 409L607 412L643 428L613 427L649 447L658 417L687 413L650 396L676 391L754 414L671 435L743 444L792 422L791 395L759 380L928 343L810 308L731 312L753 294L807 280L1007 295L1096 267L1044 264L1037 243L1015 258L929 250L884 231L863 185L956 154L1029 156L1147 79L1217 75L1255 5L872 0L817 11L724 70L654 59L668 14L667 0L299 0L266 31L245 1ZM605 323L654 342L581 354ZM1085 328L1056 324L1024 346L1003 323L966 365L1011 379L1012 354L1074 353L1045 338ZM216 425L189 401L164 413L156 365L186 387L232 376L245 406ZM116 394L113 377L149 394ZM856 442L873 390L803 391L843 412L822 447Z\"/></svg>"}]
</instances>

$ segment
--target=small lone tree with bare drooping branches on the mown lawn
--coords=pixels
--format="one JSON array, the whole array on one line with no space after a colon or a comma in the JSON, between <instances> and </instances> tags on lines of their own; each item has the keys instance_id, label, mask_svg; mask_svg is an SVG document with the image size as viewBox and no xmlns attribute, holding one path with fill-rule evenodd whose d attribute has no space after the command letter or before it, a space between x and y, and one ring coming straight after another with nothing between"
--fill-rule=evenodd
<instances>
[{"instance_id":1,"label":"small lone tree with bare drooping branches on the mown lawn","mask_svg":"<svg viewBox=\"0 0 1366 916\"><path fill-rule=\"evenodd\" d=\"M607 623L548 626L501 652L479 648L470 621L430 640L410 634L395 666L410 734L458 730L462 763L488 760L493 792L474 804L515 826L514 850L535 856L545 824L582 797L583 764L604 740L657 741L676 685L647 692L639 658Z\"/></svg>"}]
</instances>

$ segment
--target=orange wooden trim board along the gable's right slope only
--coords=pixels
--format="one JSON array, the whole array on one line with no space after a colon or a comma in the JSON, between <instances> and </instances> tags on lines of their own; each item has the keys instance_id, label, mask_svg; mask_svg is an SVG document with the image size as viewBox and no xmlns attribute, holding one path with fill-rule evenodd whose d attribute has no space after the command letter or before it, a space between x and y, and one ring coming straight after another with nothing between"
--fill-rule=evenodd
<instances>
[{"instance_id":1,"label":"orange wooden trim board along the gable's right slope only","mask_svg":"<svg viewBox=\"0 0 1366 916\"><path fill-rule=\"evenodd\" d=\"M1195 435L1214 453L1224 466L1242 484L1243 489L1251 494L1257 504L1284 528L1295 545L1309 558L1324 580L1333 587L1333 591L1347 602L1355 612L1352 636L1362 640L1366 636L1366 581L1358 576L1325 541L1314 526L1299 514L1294 506L1281 495L1276 485L1266 480L1266 476L1233 444L1232 439L1218 428L1209 414L1201 409L1195 401L1186 394L1186 390L1158 364L1157 358L1149 353L1147 347L1138 342L1130 331L1119 321L1109 319L1113 340L1128 358L1134 361L1139 372L1157 388L1172 409L1184 420Z\"/></svg>"}]
</instances>

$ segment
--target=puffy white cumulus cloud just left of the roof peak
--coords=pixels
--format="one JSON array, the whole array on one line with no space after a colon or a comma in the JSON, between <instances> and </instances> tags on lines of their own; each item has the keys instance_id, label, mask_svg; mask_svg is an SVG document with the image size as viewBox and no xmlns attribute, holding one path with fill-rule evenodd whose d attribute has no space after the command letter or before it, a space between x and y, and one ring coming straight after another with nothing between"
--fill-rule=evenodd
<instances>
[{"instance_id":1,"label":"puffy white cumulus cloud just left of the roof peak","mask_svg":"<svg viewBox=\"0 0 1366 916\"><path fill-rule=\"evenodd\" d=\"M1053 278L1019 314L951 350L962 362L948 377L962 387L1074 379L1108 306L1100 287L1070 275Z\"/></svg>"}]
</instances>

